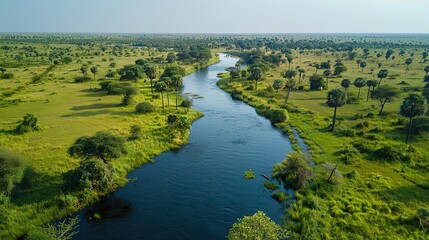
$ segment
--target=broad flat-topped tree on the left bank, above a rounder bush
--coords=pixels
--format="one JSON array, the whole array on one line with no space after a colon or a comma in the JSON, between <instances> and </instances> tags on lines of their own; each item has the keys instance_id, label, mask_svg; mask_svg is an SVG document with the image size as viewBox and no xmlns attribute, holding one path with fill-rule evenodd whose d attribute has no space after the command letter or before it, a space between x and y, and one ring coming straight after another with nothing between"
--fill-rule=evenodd
<instances>
[{"instance_id":1,"label":"broad flat-topped tree on the left bank, above a rounder bush","mask_svg":"<svg viewBox=\"0 0 429 240\"><path fill-rule=\"evenodd\" d=\"M108 132L80 137L68 149L68 154L72 157L96 157L106 164L109 159L119 158L124 153L126 153L124 140Z\"/></svg>"}]
</instances>

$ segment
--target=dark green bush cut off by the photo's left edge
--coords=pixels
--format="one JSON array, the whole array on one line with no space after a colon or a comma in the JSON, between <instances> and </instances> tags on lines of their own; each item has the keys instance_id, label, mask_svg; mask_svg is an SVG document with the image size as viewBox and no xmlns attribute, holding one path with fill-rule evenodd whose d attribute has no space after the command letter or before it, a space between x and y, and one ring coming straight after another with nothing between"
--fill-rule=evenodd
<instances>
[{"instance_id":1,"label":"dark green bush cut off by the photo's left edge","mask_svg":"<svg viewBox=\"0 0 429 240\"><path fill-rule=\"evenodd\" d=\"M21 156L0 148L0 195L12 193L23 179L25 166Z\"/></svg>"}]
</instances>

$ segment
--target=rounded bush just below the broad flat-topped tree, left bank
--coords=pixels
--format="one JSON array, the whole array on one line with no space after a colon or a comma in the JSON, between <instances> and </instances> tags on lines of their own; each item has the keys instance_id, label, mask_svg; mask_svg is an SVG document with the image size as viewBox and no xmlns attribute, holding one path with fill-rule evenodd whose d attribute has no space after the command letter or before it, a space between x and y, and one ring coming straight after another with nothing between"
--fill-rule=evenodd
<instances>
[{"instance_id":1,"label":"rounded bush just below the broad flat-topped tree, left bank","mask_svg":"<svg viewBox=\"0 0 429 240\"><path fill-rule=\"evenodd\" d=\"M112 171L100 160L86 159L78 168L63 175L63 189L66 192L97 189L106 191L112 187Z\"/></svg>"}]
</instances>

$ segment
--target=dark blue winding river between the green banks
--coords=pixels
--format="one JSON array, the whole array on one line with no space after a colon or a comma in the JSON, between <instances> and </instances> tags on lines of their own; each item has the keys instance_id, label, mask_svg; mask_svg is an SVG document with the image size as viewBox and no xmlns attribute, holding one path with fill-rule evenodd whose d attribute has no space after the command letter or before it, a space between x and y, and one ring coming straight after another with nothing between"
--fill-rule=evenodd
<instances>
[{"instance_id":1,"label":"dark blue winding river between the green banks","mask_svg":"<svg viewBox=\"0 0 429 240\"><path fill-rule=\"evenodd\" d=\"M264 188L272 166L291 145L271 123L216 86L217 74L234 66L221 61L185 77L184 93L203 98L194 107L190 144L166 152L129 174L128 184L83 210L76 239L225 239L232 224L257 210L279 222L283 206ZM257 178L246 180L252 169ZM89 221L100 212L103 220Z\"/></svg>"}]
</instances>

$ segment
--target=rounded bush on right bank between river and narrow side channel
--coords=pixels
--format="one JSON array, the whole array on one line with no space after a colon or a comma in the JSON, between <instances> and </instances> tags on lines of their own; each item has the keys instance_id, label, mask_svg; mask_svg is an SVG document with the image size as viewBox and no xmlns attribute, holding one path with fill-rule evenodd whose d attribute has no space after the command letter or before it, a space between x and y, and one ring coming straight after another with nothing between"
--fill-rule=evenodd
<instances>
[{"instance_id":1,"label":"rounded bush on right bank between river and narrow side channel","mask_svg":"<svg viewBox=\"0 0 429 240\"><path fill-rule=\"evenodd\" d=\"M273 168L273 177L294 189L305 187L310 175L309 164L305 161L304 156L298 152L292 152L286 160L274 165Z\"/></svg>"}]
</instances>

